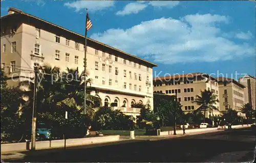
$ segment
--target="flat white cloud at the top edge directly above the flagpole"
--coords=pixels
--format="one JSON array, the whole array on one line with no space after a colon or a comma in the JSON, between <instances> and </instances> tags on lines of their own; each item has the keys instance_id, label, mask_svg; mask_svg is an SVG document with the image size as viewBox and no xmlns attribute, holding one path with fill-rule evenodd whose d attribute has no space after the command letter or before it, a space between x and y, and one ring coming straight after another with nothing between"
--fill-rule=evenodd
<instances>
[{"instance_id":1,"label":"flat white cloud at the top edge directly above the flagpole","mask_svg":"<svg viewBox=\"0 0 256 163\"><path fill-rule=\"evenodd\" d=\"M65 3L64 6L68 6L70 8L75 8L76 12L88 9L90 12L95 12L99 10L103 10L106 8L113 7L115 4L115 1L75 1L72 3Z\"/></svg>"}]
</instances>

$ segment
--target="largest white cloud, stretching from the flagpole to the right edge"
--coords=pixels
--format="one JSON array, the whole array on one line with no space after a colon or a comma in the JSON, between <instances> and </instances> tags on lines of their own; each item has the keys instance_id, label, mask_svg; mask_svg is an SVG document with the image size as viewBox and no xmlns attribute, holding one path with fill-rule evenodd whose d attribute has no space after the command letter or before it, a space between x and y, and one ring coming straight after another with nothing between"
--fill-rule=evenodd
<instances>
[{"instance_id":1,"label":"largest white cloud, stretching from the flagpole to the right edge","mask_svg":"<svg viewBox=\"0 0 256 163\"><path fill-rule=\"evenodd\" d=\"M165 64L213 62L254 55L247 43L237 44L222 36L230 18L221 15L186 15L180 19L142 21L129 29L109 29L91 37L125 52Z\"/></svg>"}]
</instances>

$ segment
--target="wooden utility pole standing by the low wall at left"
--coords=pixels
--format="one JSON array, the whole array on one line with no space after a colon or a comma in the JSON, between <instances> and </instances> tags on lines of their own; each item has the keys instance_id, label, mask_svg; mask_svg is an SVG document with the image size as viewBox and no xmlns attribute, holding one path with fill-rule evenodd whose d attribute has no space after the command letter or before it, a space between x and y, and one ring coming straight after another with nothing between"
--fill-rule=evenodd
<instances>
[{"instance_id":1,"label":"wooden utility pole standing by the low wall at left","mask_svg":"<svg viewBox=\"0 0 256 163\"><path fill-rule=\"evenodd\" d=\"M33 99L33 117L32 117L32 135L31 135L31 150L35 150L36 141L36 93L37 93L37 66L34 67L34 99Z\"/></svg>"}]
</instances>

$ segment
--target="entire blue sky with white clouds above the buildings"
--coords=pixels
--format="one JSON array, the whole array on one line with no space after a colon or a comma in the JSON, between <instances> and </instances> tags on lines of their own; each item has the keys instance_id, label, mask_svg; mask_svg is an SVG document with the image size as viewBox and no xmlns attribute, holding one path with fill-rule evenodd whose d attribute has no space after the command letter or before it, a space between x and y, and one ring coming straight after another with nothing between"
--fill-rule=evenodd
<instances>
[{"instance_id":1,"label":"entire blue sky with white clouds above the buildings","mask_svg":"<svg viewBox=\"0 0 256 163\"><path fill-rule=\"evenodd\" d=\"M156 74L255 76L253 1L1 1L158 64ZM154 73L155 74L155 73Z\"/></svg>"}]
</instances>

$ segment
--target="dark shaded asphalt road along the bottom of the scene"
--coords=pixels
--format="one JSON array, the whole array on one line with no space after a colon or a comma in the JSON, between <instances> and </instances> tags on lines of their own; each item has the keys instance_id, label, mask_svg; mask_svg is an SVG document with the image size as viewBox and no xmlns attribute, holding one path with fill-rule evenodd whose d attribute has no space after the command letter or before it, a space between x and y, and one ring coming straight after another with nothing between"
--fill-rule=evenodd
<instances>
[{"instance_id":1,"label":"dark shaded asphalt road along the bottom of the scene","mask_svg":"<svg viewBox=\"0 0 256 163\"><path fill-rule=\"evenodd\" d=\"M11 162L248 162L254 159L255 133L255 129L246 128L160 141L67 149Z\"/></svg>"}]
</instances>

